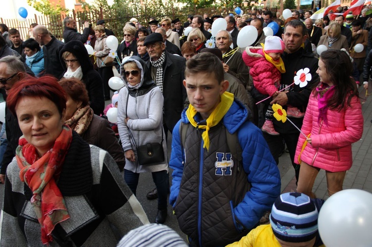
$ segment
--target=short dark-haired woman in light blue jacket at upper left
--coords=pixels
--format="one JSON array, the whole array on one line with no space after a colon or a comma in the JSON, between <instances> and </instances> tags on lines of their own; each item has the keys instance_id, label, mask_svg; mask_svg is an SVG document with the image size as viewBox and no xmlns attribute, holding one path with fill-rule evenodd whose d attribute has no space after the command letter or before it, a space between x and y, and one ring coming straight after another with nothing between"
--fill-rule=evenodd
<instances>
[{"instance_id":1,"label":"short dark-haired woman in light blue jacket at upper left","mask_svg":"<svg viewBox=\"0 0 372 247\"><path fill-rule=\"evenodd\" d=\"M34 39L28 39L22 44L26 54L26 64L36 77L44 71L44 52L40 49L39 43Z\"/></svg>"}]
</instances>

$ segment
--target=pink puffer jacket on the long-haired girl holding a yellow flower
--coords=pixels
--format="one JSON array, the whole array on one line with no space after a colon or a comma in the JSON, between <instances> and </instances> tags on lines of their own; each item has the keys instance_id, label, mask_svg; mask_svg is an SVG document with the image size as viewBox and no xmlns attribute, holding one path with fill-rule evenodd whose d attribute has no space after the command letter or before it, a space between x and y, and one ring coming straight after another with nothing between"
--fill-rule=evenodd
<instances>
[{"instance_id":1,"label":"pink puffer jacket on the long-haired girl holding a yellow flower","mask_svg":"<svg viewBox=\"0 0 372 247\"><path fill-rule=\"evenodd\" d=\"M311 93L301 128L305 135L311 132L311 145L307 144L301 153L302 161L330 172L350 169L353 164L351 144L362 137L364 122L358 97L354 96L350 105L341 111L328 109L328 126L322 120L318 124L318 101L314 93ZM298 157L305 140L300 134L295 163L299 163Z\"/></svg>"}]
</instances>

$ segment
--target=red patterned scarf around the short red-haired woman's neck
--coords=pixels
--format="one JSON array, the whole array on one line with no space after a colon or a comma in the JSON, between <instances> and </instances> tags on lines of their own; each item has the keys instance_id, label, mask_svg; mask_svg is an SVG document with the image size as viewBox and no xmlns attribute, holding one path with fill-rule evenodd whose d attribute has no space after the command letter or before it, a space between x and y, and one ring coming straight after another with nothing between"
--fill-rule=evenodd
<instances>
[{"instance_id":1,"label":"red patterned scarf around the short red-haired woman's neck","mask_svg":"<svg viewBox=\"0 0 372 247\"><path fill-rule=\"evenodd\" d=\"M41 225L43 244L53 241L51 233L54 227L68 219L66 206L56 180L62 170L64 157L70 147L72 130L63 125L60 136L53 148L39 158L36 148L22 136L16 149L19 177L30 187L33 196L31 204Z\"/></svg>"}]
</instances>

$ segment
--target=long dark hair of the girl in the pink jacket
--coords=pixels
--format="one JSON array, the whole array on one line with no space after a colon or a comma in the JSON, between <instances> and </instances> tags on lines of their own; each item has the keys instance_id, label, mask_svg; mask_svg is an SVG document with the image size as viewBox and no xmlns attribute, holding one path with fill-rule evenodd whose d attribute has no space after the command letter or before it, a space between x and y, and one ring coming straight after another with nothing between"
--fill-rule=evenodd
<instances>
[{"instance_id":1,"label":"long dark hair of the girl in the pink jacket","mask_svg":"<svg viewBox=\"0 0 372 247\"><path fill-rule=\"evenodd\" d=\"M342 50L328 49L323 51L320 58L325 66L325 71L336 87L333 96L327 105L330 109L338 109L350 106L350 101L354 96L359 96L358 87L351 77L353 64L349 55ZM314 90L315 96L317 95ZM345 99L347 101L345 102Z\"/></svg>"}]
</instances>

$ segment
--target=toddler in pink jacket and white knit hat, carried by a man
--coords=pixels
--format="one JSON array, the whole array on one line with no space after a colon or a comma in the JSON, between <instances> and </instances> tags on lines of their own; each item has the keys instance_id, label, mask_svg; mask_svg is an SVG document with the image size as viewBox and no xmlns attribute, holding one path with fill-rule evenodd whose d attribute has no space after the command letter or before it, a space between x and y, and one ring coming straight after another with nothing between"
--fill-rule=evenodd
<instances>
[{"instance_id":1,"label":"toddler in pink jacket and white knit hat, carried by a man","mask_svg":"<svg viewBox=\"0 0 372 247\"><path fill-rule=\"evenodd\" d=\"M249 75L253 79L254 87L262 95L274 97L280 87L280 79L285 73L284 63L280 55L284 52L284 42L277 36L267 36L265 44L261 47L247 47L243 52L243 60L250 67ZM275 131L273 121L274 111L269 105L265 113L265 123L262 131L270 135L279 135ZM290 117L303 117L298 108L288 106L287 115Z\"/></svg>"}]
</instances>

